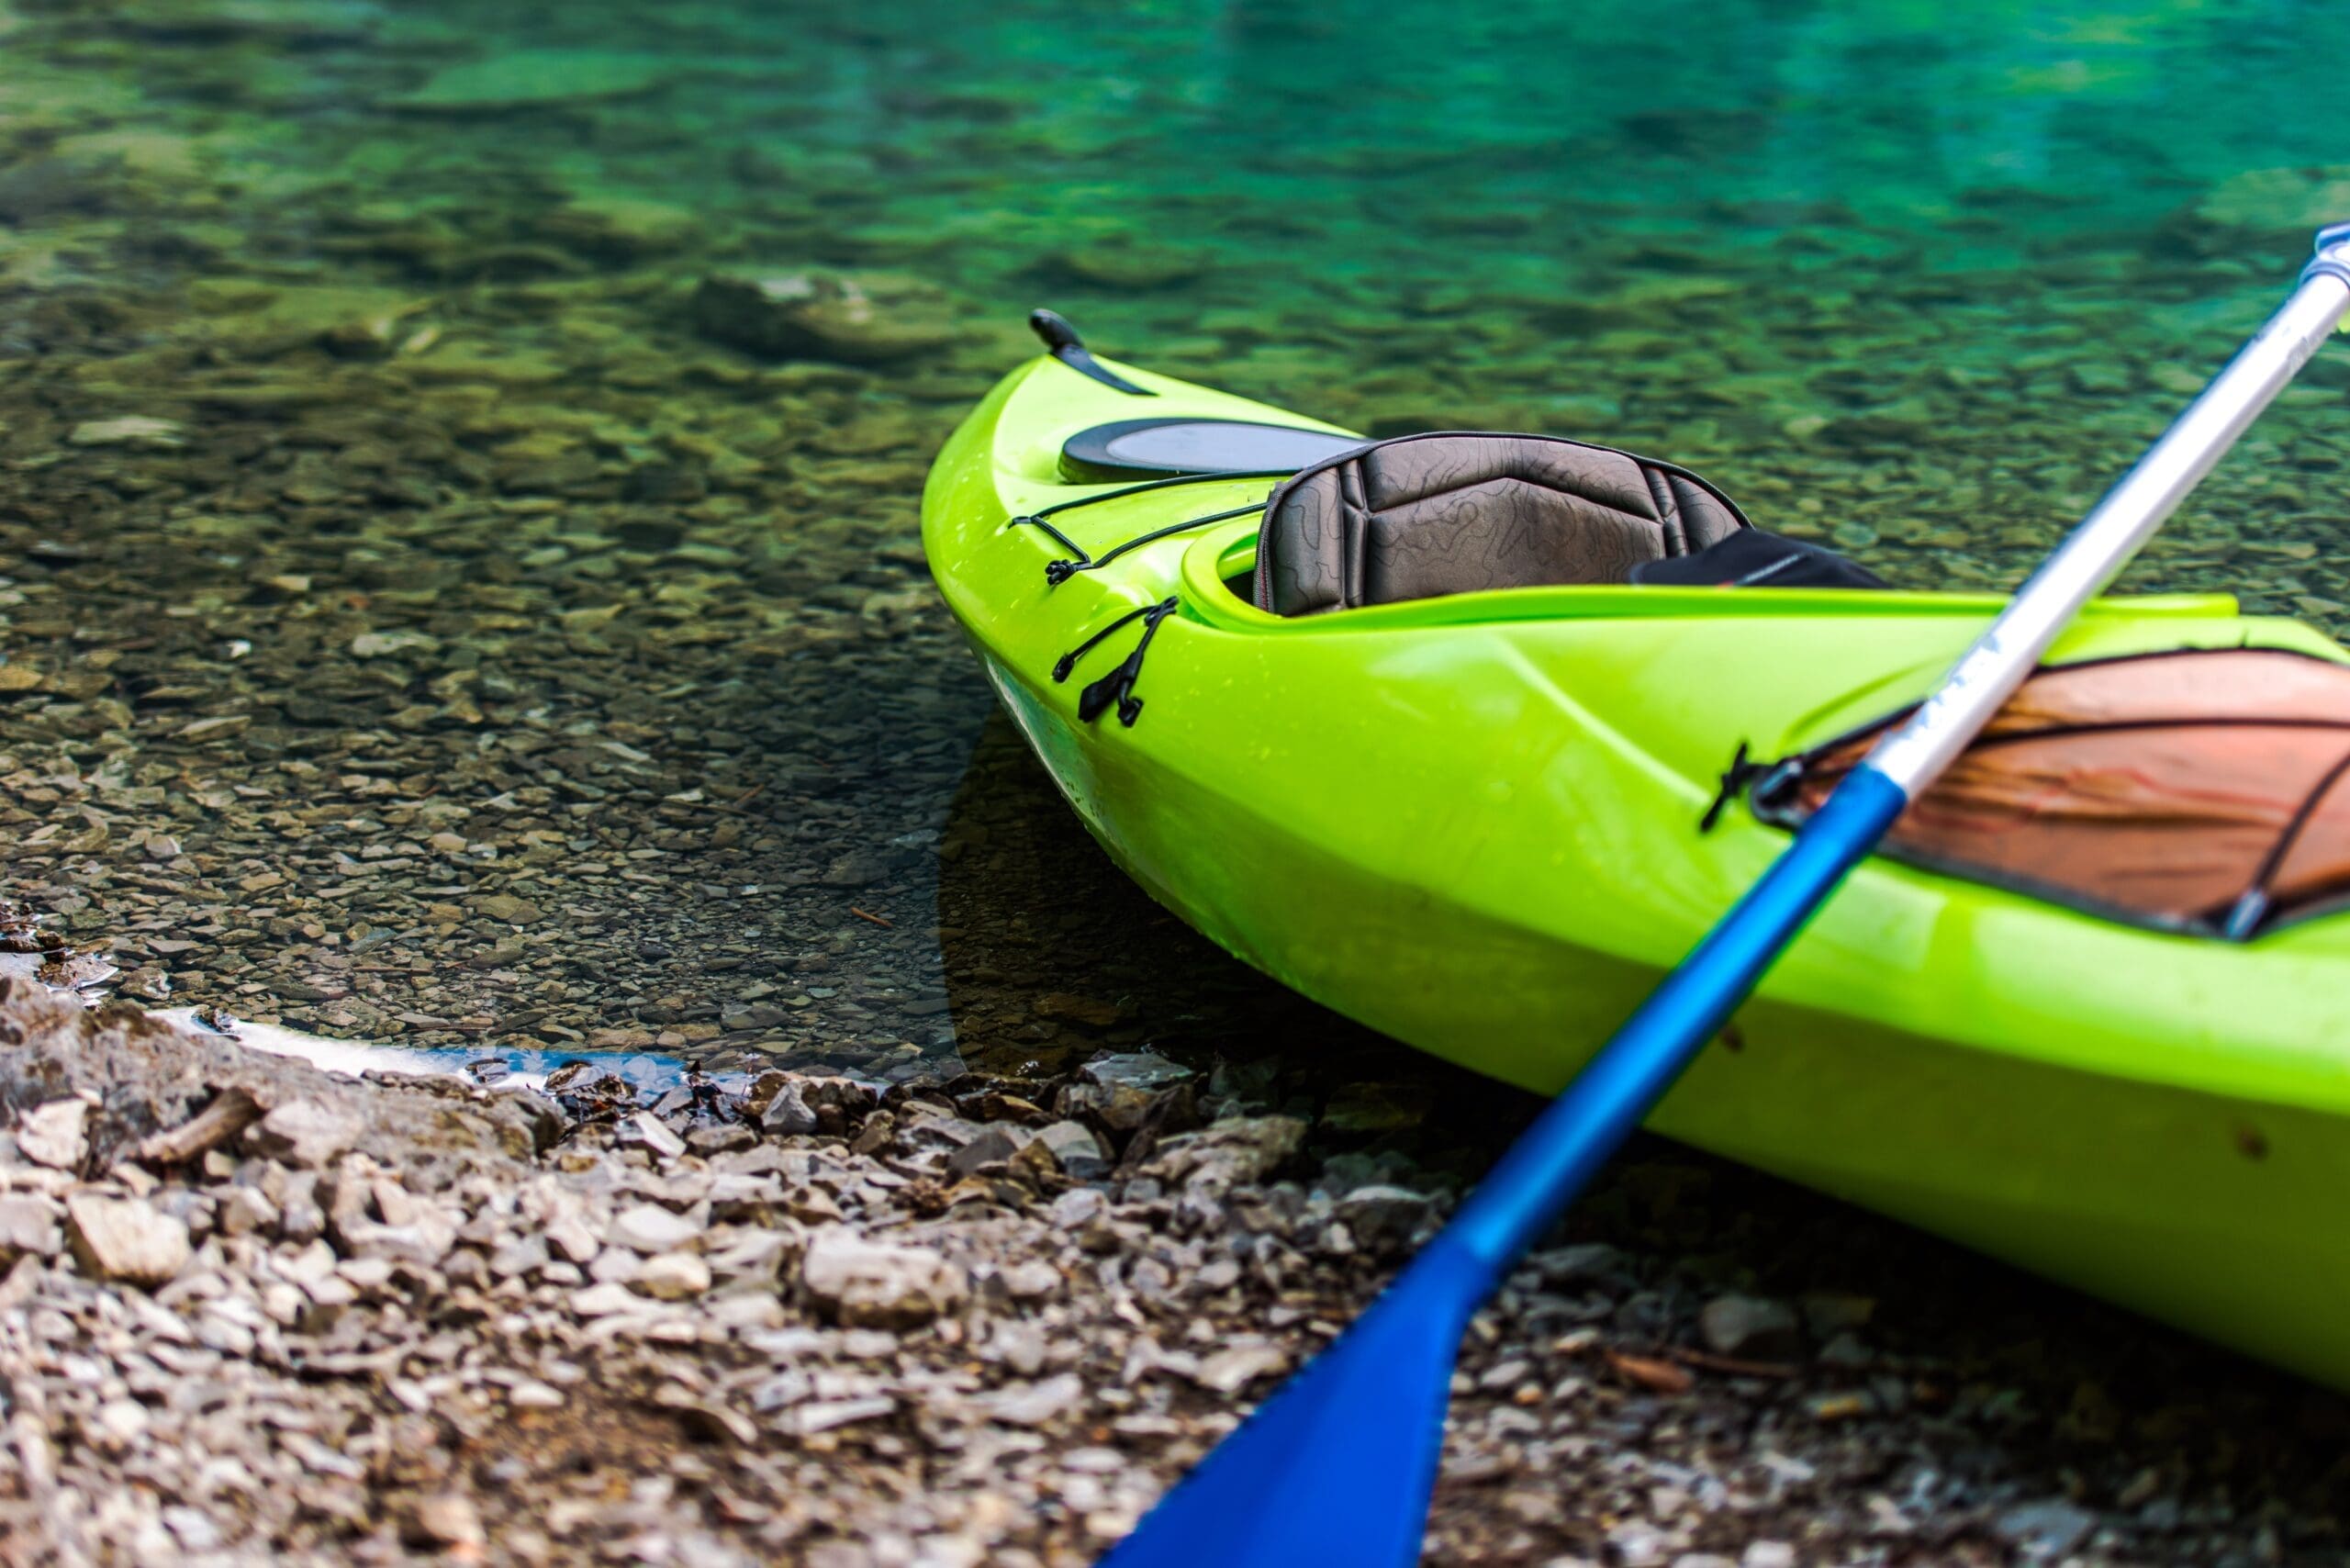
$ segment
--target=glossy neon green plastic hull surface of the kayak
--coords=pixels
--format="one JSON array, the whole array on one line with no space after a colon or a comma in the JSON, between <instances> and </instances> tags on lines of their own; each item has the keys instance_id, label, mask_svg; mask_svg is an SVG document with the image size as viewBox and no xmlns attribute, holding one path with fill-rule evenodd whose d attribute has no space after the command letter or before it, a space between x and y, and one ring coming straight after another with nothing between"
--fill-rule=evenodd
<instances>
[{"instance_id":1,"label":"glossy neon green plastic hull surface of the kayak","mask_svg":"<svg viewBox=\"0 0 2350 1568\"><path fill-rule=\"evenodd\" d=\"M1224 578L1255 522L1046 585L1010 517L1062 442L1137 416L1316 425L1055 360L947 442L924 543L987 672L1102 846L1206 936L1445 1060L1556 1091L1786 837L1699 818L1744 741L1779 757L1920 696L1998 609L1974 595L1525 588L1302 621ZM1093 552L1262 498L1215 480L1055 517ZM2052 529L2056 522L2052 520ZM1076 717L1177 599L1133 726ZM2228 597L2092 607L2054 661L2289 646ZM1652 1126L2350 1387L2350 914L2247 945L2113 924L1868 860Z\"/></svg>"}]
</instances>

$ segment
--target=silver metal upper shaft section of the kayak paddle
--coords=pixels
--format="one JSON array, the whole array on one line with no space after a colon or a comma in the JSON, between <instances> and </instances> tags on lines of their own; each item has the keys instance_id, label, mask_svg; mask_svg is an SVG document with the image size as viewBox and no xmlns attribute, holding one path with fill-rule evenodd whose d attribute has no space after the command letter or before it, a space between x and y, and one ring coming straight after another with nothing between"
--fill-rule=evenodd
<instances>
[{"instance_id":1,"label":"silver metal upper shaft section of the kayak paddle","mask_svg":"<svg viewBox=\"0 0 2350 1568\"><path fill-rule=\"evenodd\" d=\"M2331 237L2331 235L2329 235ZM2331 266L2326 266L2331 263ZM2261 334L2106 491L1908 724L1878 741L1868 764L1915 799L1974 733L2016 693L2082 604L2101 595L2129 557L2178 510L2261 409L2308 364L2350 308L2350 240L2319 252L2291 299Z\"/></svg>"}]
</instances>

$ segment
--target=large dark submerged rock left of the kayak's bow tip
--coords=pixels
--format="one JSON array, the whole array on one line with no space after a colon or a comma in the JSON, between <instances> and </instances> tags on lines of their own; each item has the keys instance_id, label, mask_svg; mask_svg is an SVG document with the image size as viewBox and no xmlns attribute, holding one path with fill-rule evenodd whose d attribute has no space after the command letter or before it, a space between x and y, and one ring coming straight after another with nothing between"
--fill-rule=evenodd
<instances>
[{"instance_id":1,"label":"large dark submerged rock left of the kayak's bow tip","mask_svg":"<svg viewBox=\"0 0 2350 1568\"><path fill-rule=\"evenodd\" d=\"M846 273L712 275L693 294L703 336L778 360L891 364L947 348L956 324L933 289Z\"/></svg>"}]
</instances>

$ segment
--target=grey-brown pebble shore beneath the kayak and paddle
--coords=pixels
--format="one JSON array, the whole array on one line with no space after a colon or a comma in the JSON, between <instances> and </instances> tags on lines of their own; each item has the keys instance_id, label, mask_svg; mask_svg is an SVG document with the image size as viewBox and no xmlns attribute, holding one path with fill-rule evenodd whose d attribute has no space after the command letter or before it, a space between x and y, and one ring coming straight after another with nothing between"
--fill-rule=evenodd
<instances>
[{"instance_id":1,"label":"grey-brown pebble shore beneath the kayak and paddle","mask_svg":"<svg viewBox=\"0 0 2350 1568\"><path fill-rule=\"evenodd\" d=\"M12 1563L1086 1563L1452 1197L1152 1053L1050 1105L585 1063L482 1088L19 978L0 1126ZM1932 1295L1906 1326L1706 1286L1692 1227L1725 1220L1671 1197L1704 1185L1643 1152L1593 1201L1617 1239L1558 1237L1478 1316L1431 1561L2336 1561L2338 1399L2247 1448L2204 1401L2284 1410L2282 1380L2186 1356L2150 1389L2160 1338L2070 1389L2000 1335L1887 1349L1969 1335Z\"/></svg>"}]
</instances>

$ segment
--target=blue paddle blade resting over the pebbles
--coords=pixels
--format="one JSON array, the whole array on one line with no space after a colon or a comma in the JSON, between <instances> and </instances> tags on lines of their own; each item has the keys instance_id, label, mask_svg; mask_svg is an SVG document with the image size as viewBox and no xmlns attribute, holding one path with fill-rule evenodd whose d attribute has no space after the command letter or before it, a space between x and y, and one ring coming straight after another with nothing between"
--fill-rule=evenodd
<instances>
[{"instance_id":1,"label":"blue paddle blade resting over the pebbles","mask_svg":"<svg viewBox=\"0 0 2350 1568\"><path fill-rule=\"evenodd\" d=\"M1408 1568L1452 1356L1490 1272L1434 1244L1102 1559L1102 1568Z\"/></svg>"}]
</instances>

